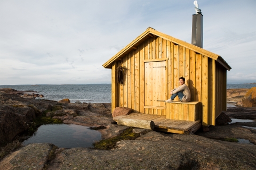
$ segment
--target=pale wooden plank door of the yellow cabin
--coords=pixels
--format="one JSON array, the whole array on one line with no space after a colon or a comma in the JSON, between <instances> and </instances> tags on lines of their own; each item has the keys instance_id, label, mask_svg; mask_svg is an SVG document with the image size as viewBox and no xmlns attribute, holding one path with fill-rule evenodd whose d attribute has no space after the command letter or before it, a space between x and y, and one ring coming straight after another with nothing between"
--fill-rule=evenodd
<instances>
[{"instance_id":1,"label":"pale wooden plank door of the yellow cabin","mask_svg":"<svg viewBox=\"0 0 256 170\"><path fill-rule=\"evenodd\" d=\"M145 106L164 107L166 93L166 62L145 63Z\"/></svg>"}]
</instances>

